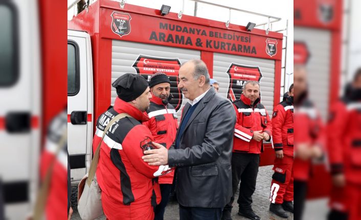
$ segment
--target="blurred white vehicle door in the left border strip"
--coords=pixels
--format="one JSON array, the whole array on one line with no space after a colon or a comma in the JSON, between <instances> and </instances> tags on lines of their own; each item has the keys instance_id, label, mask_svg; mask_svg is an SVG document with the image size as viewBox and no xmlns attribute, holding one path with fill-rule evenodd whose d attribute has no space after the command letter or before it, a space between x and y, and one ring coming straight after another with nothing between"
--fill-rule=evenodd
<instances>
[{"instance_id":1,"label":"blurred white vehicle door in the left border strip","mask_svg":"<svg viewBox=\"0 0 361 220\"><path fill-rule=\"evenodd\" d=\"M37 14L34 1L0 1L0 219L25 219L38 186Z\"/></svg>"}]
</instances>

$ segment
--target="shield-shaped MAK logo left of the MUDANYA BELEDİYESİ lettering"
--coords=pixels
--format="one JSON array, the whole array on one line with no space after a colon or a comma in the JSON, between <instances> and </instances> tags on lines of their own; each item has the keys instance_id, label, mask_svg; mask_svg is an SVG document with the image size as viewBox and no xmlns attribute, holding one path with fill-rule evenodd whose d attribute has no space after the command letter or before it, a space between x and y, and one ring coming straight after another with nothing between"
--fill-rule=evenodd
<instances>
[{"instance_id":1,"label":"shield-shaped MAK logo left of the MUDANYA BELED\u0130YES\u0130 lettering","mask_svg":"<svg viewBox=\"0 0 361 220\"><path fill-rule=\"evenodd\" d=\"M114 11L111 13L111 30L120 37L130 34L130 20L128 13Z\"/></svg>"}]
</instances>

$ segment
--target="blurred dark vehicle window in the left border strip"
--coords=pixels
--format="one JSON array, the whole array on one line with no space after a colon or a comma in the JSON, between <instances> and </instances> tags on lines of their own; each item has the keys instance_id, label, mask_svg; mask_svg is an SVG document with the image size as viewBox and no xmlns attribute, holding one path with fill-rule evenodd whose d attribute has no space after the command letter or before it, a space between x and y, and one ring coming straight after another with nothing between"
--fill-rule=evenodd
<instances>
[{"instance_id":1,"label":"blurred dark vehicle window in the left border strip","mask_svg":"<svg viewBox=\"0 0 361 220\"><path fill-rule=\"evenodd\" d=\"M12 86L18 79L16 10L0 2L0 87Z\"/></svg>"}]
</instances>

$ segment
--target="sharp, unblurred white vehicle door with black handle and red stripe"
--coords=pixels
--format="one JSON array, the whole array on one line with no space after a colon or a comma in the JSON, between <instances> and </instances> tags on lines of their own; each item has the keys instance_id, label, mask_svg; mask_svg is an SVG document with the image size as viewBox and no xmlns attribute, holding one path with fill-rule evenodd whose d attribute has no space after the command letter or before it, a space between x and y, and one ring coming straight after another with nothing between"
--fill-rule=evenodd
<instances>
[{"instance_id":1,"label":"sharp, unblurred white vehicle door with black handle and red stripe","mask_svg":"<svg viewBox=\"0 0 361 220\"><path fill-rule=\"evenodd\" d=\"M67 39L67 143L71 181L76 184L91 160L93 72L89 35L68 31Z\"/></svg>"}]
</instances>

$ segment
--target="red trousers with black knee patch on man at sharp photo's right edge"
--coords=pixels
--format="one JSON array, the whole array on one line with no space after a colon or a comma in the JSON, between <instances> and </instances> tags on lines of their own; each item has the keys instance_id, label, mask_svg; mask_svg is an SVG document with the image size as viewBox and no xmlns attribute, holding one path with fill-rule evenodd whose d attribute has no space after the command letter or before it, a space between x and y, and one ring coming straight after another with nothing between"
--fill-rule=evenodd
<instances>
[{"instance_id":1,"label":"red trousers with black knee patch on man at sharp photo's right edge","mask_svg":"<svg viewBox=\"0 0 361 220\"><path fill-rule=\"evenodd\" d=\"M282 204L283 201L294 200L294 157L284 155L276 158L272 176L269 201Z\"/></svg>"}]
</instances>

